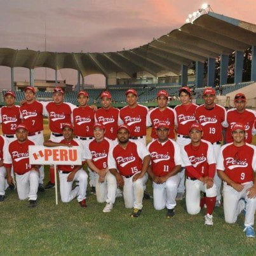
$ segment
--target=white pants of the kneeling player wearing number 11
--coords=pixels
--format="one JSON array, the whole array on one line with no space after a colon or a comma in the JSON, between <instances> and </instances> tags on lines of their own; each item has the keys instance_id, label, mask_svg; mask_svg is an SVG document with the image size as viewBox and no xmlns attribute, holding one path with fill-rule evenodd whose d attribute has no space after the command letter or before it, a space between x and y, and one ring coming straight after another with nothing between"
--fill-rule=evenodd
<instances>
[{"instance_id":1,"label":"white pants of the kneeling player wearing number 11","mask_svg":"<svg viewBox=\"0 0 256 256\"><path fill-rule=\"evenodd\" d=\"M154 208L156 210L173 209L176 206L175 198L177 196L180 175L168 178L163 184L153 182Z\"/></svg>"}]
</instances>

